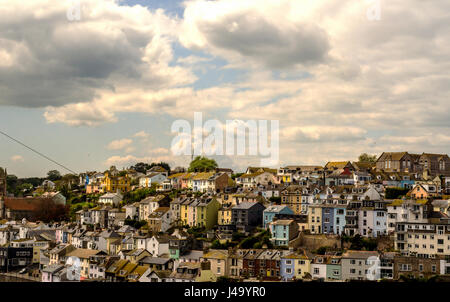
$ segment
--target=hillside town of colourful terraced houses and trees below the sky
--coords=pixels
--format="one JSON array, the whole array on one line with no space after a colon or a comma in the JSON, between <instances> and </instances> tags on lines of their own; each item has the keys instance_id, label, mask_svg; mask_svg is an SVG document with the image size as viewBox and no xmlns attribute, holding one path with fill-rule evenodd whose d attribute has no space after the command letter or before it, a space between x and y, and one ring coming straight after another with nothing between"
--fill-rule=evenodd
<instances>
[{"instance_id":1,"label":"hillside town of colourful terraced houses and trees below the sky","mask_svg":"<svg viewBox=\"0 0 450 302\"><path fill-rule=\"evenodd\" d=\"M0 169L0 272L37 282L346 282L450 276L450 158L315 166Z\"/></svg>"}]
</instances>

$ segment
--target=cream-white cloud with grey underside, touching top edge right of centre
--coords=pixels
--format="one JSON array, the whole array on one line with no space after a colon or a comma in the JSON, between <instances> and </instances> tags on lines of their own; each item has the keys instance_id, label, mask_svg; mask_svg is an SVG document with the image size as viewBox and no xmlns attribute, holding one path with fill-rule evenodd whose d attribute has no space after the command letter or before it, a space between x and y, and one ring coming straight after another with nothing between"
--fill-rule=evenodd
<instances>
[{"instance_id":1,"label":"cream-white cloud with grey underside, touching top edge right of centre","mask_svg":"<svg viewBox=\"0 0 450 302\"><path fill-rule=\"evenodd\" d=\"M289 19L292 1L189 1L180 40L230 62L291 68L326 61L326 31L302 18ZM306 22L305 22L306 21Z\"/></svg>"}]
</instances>

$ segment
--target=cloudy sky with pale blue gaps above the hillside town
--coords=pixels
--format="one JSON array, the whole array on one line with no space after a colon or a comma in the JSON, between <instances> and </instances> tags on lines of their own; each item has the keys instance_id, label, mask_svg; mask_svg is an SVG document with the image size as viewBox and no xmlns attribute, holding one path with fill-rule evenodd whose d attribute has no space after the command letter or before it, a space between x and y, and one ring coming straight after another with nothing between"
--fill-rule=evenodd
<instances>
[{"instance_id":1,"label":"cloudy sky with pale blue gaps above the hillside town","mask_svg":"<svg viewBox=\"0 0 450 302\"><path fill-rule=\"evenodd\" d=\"M0 131L75 172L187 166L194 112L278 120L278 166L450 153L448 0L79 3L0 0ZM0 166L68 173L1 135Z\"/></svg>"}]
</instances>

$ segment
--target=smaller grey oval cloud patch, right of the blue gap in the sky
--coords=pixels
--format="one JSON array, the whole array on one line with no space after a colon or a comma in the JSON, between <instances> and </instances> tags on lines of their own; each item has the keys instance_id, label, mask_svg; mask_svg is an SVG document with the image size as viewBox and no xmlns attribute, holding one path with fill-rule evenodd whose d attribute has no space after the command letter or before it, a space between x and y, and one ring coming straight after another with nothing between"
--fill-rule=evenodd
<instances>
[{"instance_id":1,"label":"smaller grey oval cloud patch, right of the blue gap in the sky","mask_svg":"<svg viewBox=\"0 0 450 302\"><path fill-rule=\"evenodd\" d=\"M272 69L322 63L330 50L327 33L314 24L281 28L247 12L224 17L221 22L202 21L198 29L214 47Z\"/></svg>"}]
</instances>

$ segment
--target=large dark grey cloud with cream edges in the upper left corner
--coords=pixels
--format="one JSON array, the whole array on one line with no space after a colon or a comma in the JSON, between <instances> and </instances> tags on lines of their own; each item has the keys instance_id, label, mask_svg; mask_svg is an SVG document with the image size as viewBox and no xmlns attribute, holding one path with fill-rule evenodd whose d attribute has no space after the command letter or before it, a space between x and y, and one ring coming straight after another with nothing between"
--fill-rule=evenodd
<instances>
[{"instance_id":1,"label":"large dark grey cloud with cream edges in the upper left corner","mask_svg":"<svg viewBox=\"0 0 450 302\"><path fill-rule=\"evenodd\" d=\"M91 101L99 89L117 85L157 89L173 82L170 72L153 70L167 66L171 48L155 38L158 21L148 10L141 8L148 18L139 21L111 9L69 22L64 4L41 2L43 15L24 5L0 21L0 105L58 107Z\"/></svg>"}]
</instances>

